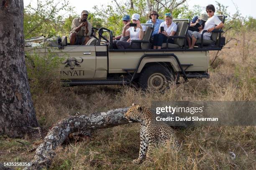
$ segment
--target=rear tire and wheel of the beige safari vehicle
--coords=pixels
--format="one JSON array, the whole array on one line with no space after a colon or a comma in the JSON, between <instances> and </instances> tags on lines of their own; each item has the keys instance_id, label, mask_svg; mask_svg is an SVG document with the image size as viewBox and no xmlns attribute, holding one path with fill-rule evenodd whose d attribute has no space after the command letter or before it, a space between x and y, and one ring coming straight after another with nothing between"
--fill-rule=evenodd
<instances>
[{"instance_id":1,"label":"rear tire and wheel of the beige safari vehicle","mask_svg":"<svg viewBox=\"0 0 256 170\"><path fill-rule=\"evenodd\" d=\"M164 65L149 65L142 70L138 83L142 90L148 87L158 92L162 92L168 87L170 82L174 81L174 73Z\"/></svg>"}]
</instances>

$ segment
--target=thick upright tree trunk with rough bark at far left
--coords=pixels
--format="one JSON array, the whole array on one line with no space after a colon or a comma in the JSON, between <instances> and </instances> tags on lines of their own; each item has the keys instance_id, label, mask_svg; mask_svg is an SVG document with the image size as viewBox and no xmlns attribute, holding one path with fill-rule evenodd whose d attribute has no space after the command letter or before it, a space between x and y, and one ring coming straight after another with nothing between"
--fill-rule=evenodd
<instances>
[{"instance_id":1,"label":"thick upright tree trunk with rough bark at far left","mask_svg":"<svg viewBox=\"0 0 256 170\"><path fill-rule=\"evenodd\" d=\"M24 58L23 0L0 0L0 133L37 127Z\"/></svg>"}]
</instances>

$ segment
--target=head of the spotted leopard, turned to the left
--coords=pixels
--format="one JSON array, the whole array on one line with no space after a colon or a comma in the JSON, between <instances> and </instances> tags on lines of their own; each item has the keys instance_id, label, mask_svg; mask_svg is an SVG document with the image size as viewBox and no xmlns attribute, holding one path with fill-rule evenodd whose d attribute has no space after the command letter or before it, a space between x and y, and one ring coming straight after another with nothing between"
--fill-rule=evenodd
<instances>
[{"instance_id":1,"label":"head of the spotted leopard, turned to the left","mask_svg":"<svg viewBox=\"0 0 256 170\"><path fill-rule=\"evenodd\" d=\"M142 122L144 120L143 116L144 107L140 105L132 105L128 111L125 113L125 118L131 122Z\"/></svg>"}]
</instances>

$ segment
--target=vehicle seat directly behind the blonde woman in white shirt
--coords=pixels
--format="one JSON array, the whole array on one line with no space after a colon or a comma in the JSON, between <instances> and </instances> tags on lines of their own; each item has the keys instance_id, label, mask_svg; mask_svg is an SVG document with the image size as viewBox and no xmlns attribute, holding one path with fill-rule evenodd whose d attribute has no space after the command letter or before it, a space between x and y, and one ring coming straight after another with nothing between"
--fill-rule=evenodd
<instances>
[{"instance_id":1,"label":"vehicle seat directly behind the blonde woman in white shirt","mask_svg":"<svg viewBox=\"0 0 256 170\"><path fill-rule=\"evenodd\" d=\"M186 36L186 32L189 28L189 20L178 20L174 23L177 24L177 32L175 33L175 36ZM168 48L182 48L184 46L185 38L174 38L174 44L168 43ZM162 44L162 48L166 48L166 43L164 42Z\"/></svg>"}]
</instances>

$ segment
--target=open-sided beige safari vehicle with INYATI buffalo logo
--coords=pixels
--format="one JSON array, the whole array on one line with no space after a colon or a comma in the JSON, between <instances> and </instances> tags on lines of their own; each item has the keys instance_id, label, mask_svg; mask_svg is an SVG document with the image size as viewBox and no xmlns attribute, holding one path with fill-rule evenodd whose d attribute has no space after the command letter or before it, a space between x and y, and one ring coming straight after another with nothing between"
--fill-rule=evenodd
<instances>
[{"instance_id":1,"label":"open-sided beige safari vehicle with INYATI buffalo logo","mask_svg":"<svg viewBox=\"0 0 256 170\"><path fill-rule=\"evenodd\" d=\"M225 16L218 16L224 23ZM209 78L207 72L209 51L221 50L225 45L222 30L212 31L211 40L197 40L197 47L188 49L186 35L190 20L174 20L177 32L174 44L164 43L161 50L151 49L153 24L146 26L141 49L113 49L113 33L107 28L92 28L98 31L86 45L69 45L67 37L62 37L53 48L56 55L65 57L59 68L63 83L67 85L116 85L136 82L142 89L152 87L162 91L169 81L189 78ZM108 32L109 37L103 36ZM204 33L204 32L203 32ZM31 49L27 47L26 50ZM30 50L33 51L33 50ZM45 49L36 48L39 55L45 55ZM64 55L67 54L67 55Z\"/></svg>"}]
</instances>

